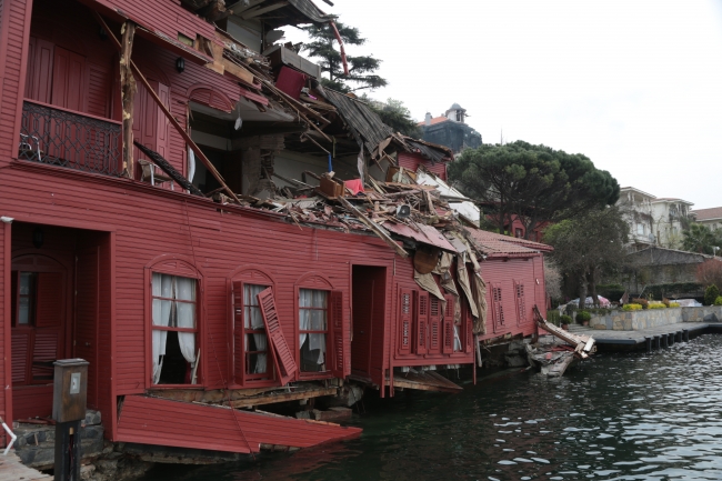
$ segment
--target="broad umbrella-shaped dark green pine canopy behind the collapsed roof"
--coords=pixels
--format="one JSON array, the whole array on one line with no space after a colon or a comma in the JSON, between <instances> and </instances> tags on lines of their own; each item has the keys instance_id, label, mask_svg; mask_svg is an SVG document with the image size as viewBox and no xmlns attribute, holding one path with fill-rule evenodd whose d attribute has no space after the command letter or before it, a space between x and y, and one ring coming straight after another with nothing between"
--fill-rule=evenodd
<instances>
[{"instance_id":1,"label":"broad umbrella-shaped dark green pine canopy behind the collapsed roof","mask_svg":"<svg viewBox=\"0 0 722 481\"><path fill-rule=\"evenodd\" d=\"M616 179L588 157L521 140L464 150L449 178L484 206L500 232L518 218L527 237L545 222L611 206L620 192Z\"/></svg>"}]
</instances>

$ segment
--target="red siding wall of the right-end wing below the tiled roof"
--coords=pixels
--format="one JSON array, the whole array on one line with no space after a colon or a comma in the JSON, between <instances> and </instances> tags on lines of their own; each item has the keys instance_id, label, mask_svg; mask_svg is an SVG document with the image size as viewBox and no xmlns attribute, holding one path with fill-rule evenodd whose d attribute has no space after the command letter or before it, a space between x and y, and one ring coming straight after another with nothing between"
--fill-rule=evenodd
<instances>
[{"instance_id":1,"label":"red siding wall of the right-end wing below the tiled roof","mask_svg":"<svg viewBox=\"0 0 722 481\"><path fill-rule=\"evenodd\" d=\"M487 260L481 263L481 275L487 282L487 304L489 305L487 318L487 334L481 340L494 339L499 335L511 333L512 335L530 335L534 332L533 307L540 309L545 305L543 294L543 275L540 279L541 289L537 285L537 265L541 264L542 254L533 254L530 258L513 258L508 261L501 259ZM524 312L525 319L520 320L517 302L517 284L524 285ZM504 311L504 325L494 330L492 285L500 285L502 292L501 305Z\"/></svg>"}]
</instances>

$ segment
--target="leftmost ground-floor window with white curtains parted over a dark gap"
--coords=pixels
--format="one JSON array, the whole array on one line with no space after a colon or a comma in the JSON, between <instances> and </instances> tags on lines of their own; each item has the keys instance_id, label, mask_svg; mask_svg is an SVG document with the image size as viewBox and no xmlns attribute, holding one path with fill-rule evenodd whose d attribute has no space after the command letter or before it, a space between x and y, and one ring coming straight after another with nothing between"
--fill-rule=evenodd
<instances>
[{"instance_id":1,"label":"leftmost ground-floor window with white curtains parted over a dark gap","mask_svg":"<svg viewBox=\"0 0 722 481\"><path fill-rule=\"evenodd\" d=\"M197 280L153 272L153 384L195 384Z\"/></svg>"}]
</instances>

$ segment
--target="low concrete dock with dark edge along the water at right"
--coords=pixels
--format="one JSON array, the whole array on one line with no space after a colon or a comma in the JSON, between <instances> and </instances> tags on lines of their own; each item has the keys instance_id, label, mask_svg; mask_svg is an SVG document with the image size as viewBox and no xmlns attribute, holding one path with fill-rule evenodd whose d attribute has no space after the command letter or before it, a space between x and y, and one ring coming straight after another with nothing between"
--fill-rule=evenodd
<instances>
[{"instance_id":1,"label":"low concrete dock with dark edge along the water at right","mask_svg":"<svg viewBox=\"0 0 722 481\"><path fill-rule=\"evenodd\" d=\"M574 334L593 337L600 350L614 350L615 348L654 350L673 345L676 342L685 342L708 332L722 332L720 322L679 322L636 331L600 330L582 325L570 325L569 328L569 331Z\"/></svg>"}]
</instances>

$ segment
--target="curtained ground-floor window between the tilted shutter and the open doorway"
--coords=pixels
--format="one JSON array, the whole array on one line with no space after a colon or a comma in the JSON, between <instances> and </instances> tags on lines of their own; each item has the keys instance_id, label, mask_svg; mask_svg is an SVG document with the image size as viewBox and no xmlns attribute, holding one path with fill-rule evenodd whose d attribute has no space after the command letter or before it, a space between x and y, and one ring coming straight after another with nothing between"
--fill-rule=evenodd
<instances>
[{"instance_id":1,"label":"curtained ground-floor window between the tilted shutter and the open doorway","mask_svg":"<svg viewBox=\"0 0 722 481\"><path fill-rule=\"evenodd\" d=\"M299 290L301 372L323 372L328 337L328 292Z\"/></svg>"}]
</instances>

